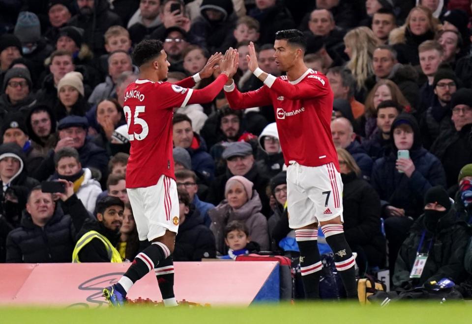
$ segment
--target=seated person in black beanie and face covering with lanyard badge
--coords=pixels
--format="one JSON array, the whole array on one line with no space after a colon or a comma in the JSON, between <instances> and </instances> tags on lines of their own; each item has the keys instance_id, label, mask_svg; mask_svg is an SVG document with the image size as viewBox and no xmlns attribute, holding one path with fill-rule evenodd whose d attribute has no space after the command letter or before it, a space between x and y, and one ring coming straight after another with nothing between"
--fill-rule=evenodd
<instances>
[{"instance_id":1,"label":"seated person in black beanie and face covering with lanyard badge","mask_svg":"<svg viewBox=\"0 0 472 324\"><path fill-rule=\"evenodd\" d=\"M412 225L395 263L393 285L412 289L425 282L452 280L459 285L466 277L464 255L470 238L467 223L456 216L447 192L430 188L424 197L424 214ZM416 254L428 253L420 278L410 278Z\"/></svg>"}]
</instances>

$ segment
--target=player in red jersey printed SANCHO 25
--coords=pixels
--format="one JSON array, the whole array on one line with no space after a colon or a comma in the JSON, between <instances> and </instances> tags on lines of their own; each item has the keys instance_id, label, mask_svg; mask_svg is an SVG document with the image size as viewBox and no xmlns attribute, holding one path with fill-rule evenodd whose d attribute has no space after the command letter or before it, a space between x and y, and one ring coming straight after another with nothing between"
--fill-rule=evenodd
<instances>
[{"instance_id":1,"label":"player in red jersey printed SANCHO 25","mask_svg":"<svg viewBox=\"0 0 472 324\"><path fill-rule=\"evenodd\" d=\"M221 59L221 60L220 60ZM237 70L237 52L212 55L201 73L171 84L169 62L162 42L145 40L136 45L133 61L139 79L126 88L123 111L131 143L126 167L126 189L140 241L151 244L140 252L117 284L103 290L111 305L121 306L132 285L154 271L166 306L176 306L174 251L179 224L177 185L174 175L172 117L175 107L212 101ZM190 87L208 77L219 64L221 74L201 90Z\"/></svg>"}]
</instances>

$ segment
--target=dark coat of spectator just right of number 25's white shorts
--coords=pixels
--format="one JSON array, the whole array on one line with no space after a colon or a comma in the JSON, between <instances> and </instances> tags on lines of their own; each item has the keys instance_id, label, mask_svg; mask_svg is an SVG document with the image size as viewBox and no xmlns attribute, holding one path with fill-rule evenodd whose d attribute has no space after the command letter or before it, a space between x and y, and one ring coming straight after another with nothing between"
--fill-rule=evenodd
<instances>
[{"instance_id":1,"label":"dark coat of spectator just right of number 25's white shorts","mask_svg":"<svg viewBox=\"0 0 472 324\"><path fill-rule=\"evenodd\" d=\"M185 221L180 222L178 226L173 256L174 261L216 258L215 237L193 205L190 205L190 212L185 215Z\"/></svg>"}]
</instances>

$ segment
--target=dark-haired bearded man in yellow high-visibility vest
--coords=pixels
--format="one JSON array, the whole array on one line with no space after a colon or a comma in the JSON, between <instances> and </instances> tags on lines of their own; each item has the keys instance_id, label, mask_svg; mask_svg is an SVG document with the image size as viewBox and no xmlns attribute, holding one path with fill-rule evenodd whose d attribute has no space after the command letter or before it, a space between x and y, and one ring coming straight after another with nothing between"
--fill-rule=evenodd
<instances>
[{"instance_id":1,"label":"dark-haired bearded man in yellow high-visibility vest","mask_svg":"<svg viewBox=\"0 0 472 324\"><path fill-rule=\"evenodd\" d=\"M97 203L97 219L87 219L77 235L72 262L121 263L116 248L123 224L124 203L118 197L105 197Z\"/></svg>"}]
</instances>

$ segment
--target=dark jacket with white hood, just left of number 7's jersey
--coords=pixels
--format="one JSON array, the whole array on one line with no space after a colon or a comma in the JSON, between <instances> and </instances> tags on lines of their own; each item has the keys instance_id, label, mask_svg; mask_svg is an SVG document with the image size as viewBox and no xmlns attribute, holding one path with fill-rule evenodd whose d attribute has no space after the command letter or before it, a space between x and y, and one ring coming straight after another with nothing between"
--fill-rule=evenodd
<instances>
[{"instance_id":1,"label":"dark jacket with white hood, just left of number 7's jersey","mask_svg":"<svg viewBox=\"0 0 472 324\"><path fill-rule=\"evenodd\" d=\"M270 123L264 128L261 135L259 135L259 157L257 159L257 164L259 165L261 171L268 175L269 177L274 177L282 171L285 161L282 154L282 149L279 144L279 151L277 153L267 153L264 147L264 138L266 136L272 136L279 139L279 134L277 132L277 125L275 123Z\"/></svg>"}]
</instances>

